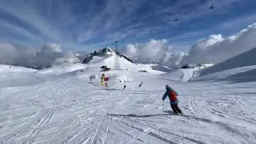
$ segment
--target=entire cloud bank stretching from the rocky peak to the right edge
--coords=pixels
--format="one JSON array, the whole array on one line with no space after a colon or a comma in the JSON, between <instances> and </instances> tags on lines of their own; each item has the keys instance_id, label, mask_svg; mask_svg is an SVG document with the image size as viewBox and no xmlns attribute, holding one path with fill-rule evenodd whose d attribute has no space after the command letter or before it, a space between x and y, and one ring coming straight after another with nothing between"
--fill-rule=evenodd
<instances>
[{"instance_id":1,"label":"entire cloud bank stretching from the rocky peak to the right edge","mask_svg":"<svg viewBox=\"0 0 256 144\"><path fill-rule=\"evenodd\" d=\"M135 62L152 63L178 68L181 64L217 64L256 47L256 23L228 38L221 34L198 40L188 52L173 52L167 40L150 40L144 44L128 44L123 52Z\"/></svg>"}]
</instances>

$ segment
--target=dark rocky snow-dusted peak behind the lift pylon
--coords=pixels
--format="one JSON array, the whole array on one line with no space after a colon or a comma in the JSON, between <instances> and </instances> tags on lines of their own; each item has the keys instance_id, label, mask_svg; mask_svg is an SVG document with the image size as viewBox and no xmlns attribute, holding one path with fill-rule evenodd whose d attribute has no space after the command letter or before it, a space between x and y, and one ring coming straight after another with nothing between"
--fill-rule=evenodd
<instances>
[{"instance_id":1,"label":"dark rocky snow-dusted peak behind the lift pylon","mask_svg":"<svg viewBox=\"0 0 256 144\"><path fill-rule=\"evenodd\" d=\"M113 50L112 48L106 47L103 48L102 50L95 50L93 53L91 53L87 58L85 58L83 60L84 64L87 64L88 62L90 62L94 56L99 56L99 57L109 57L111 55L118 55L120 58L124 58L126 60L128 60L129 62L132 62L132 59L129 58L128 56L124 55L124 54L120 54L119 52L116 52L116 50Z\"/></svg>"}]
</instances>

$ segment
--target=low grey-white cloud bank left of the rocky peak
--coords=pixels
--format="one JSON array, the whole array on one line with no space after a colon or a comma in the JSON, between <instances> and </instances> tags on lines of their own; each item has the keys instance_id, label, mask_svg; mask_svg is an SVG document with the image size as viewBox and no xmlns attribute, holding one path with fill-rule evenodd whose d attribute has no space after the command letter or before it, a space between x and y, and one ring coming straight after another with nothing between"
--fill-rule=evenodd
<instances>
[{"instance_id":1,"label":"low grey-white cloud bank left of the rocky peak","mask_svg":"<svg viewBox=\"0 0 256 144\"><path fill-rule=\"evenodd\" d=\"M63 52L61 45L47 43L40 50L9 42L0 43L0 63L25 67L45 68L62 62L79 61L71 51Z\"/></svg>"}]
</instances>

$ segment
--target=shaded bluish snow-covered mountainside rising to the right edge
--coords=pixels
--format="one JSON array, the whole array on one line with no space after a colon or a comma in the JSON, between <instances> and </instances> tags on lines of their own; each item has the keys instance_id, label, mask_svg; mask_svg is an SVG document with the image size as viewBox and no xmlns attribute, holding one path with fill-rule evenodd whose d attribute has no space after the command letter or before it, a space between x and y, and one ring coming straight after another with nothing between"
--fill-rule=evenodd
<instances>
[{"instance_id":1,"label":"shaded bluish snow-covered mountainside rising to the right edge","mask_svg":"<svg viewBox=\"0 0 256 144\"><path fill-rule=\"evenodd\" d=\"M195 71L194 80L234 80L238 78L242 80L250 78L250 81L252 81L256 77L255 56L256 48L253 48L215 66Z\"/></svg>"}]
</instances>

